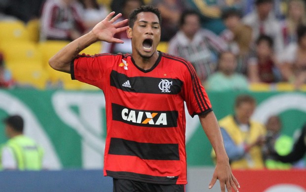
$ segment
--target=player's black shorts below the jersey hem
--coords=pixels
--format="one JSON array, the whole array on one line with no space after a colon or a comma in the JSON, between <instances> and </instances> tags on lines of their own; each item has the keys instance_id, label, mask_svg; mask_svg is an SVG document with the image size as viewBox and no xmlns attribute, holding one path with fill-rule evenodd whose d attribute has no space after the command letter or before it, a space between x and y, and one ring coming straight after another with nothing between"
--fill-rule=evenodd
<instances>
[{"instance_id":1,"label":"player's black shorts below the jersey hem","mask_svg":"<svg viewBox=\"0 0 306 192\"><path fill-rule=\"evenodd\" d=\"M113 178L113 192L185 192L185 185L161 185Z\"/></svg>"}]
</instances>

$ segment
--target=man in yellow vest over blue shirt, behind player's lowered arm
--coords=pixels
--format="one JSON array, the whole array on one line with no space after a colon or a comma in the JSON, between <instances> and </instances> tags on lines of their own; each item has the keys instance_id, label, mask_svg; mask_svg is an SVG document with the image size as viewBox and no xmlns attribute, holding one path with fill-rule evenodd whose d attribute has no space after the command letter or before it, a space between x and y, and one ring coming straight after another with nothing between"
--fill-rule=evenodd
<instances>
[{"instance_id":1,"label":"man in yellow vest over blue shirt, behind player's lowered arm","mask_svg":"<svg viewBox=\"0 0 306 192\"><path fill-rule=\"evenodd\" d=\"M232 169L262 169L265 167L262 145L265 141L265 127L251 120L256 107L252 96L236 97L234 115L219 121L226 152ZM212 157L216 156L212 151Z\"/></svg>"}]
</instances>

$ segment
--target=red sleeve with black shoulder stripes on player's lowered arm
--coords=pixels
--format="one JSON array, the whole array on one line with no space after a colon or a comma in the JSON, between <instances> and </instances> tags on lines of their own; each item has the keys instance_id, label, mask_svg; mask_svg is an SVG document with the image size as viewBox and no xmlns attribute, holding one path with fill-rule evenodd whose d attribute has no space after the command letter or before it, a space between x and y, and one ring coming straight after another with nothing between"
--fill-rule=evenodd
<instances>
[{"instance_id":1,"label":"red sleeve with black shoulder stripes on player's lowered arm","mask_svg":"<svg viewBox=\"0 0 306 192\"><path fill-rule=\"evenodd\" d=\"M212 106L207 93L202 86L193 66L189 62L184 62L186 70L184 71L184 100L188 108L188 112L194 115L205 115L212 111Z\"/></svg>"}]
</instances>

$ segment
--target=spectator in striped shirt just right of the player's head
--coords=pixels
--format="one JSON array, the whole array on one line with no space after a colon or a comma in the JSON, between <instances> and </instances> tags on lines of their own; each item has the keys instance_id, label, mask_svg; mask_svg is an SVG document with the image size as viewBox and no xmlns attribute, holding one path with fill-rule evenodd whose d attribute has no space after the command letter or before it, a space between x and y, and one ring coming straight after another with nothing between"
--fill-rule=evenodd
<instances>
[{"instance_id":1,"label":"spectator in striped shirt just right of the player's head","mask_svg":"<svg viewBox=\"0 0 306 192\"><path fill-rule=\"evenodd\" d=\"M213 32L201 29L200 16L187 10L180 18L180 31L171 38L168 53L187 59L194 66L201 82L215 72L217 56L227 50L227 43Z\"/></svg>"}]
</instances>

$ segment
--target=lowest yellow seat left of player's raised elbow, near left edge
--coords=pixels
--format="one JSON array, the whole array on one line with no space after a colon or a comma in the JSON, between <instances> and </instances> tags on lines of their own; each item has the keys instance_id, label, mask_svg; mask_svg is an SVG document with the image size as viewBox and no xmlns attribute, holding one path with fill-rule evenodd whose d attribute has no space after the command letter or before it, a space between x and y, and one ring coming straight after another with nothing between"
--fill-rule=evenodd
<instances>
[{"instance_id":1,"label":"lowest yellow seat left of player's raised elbow, near left edge","mask_svg":"<svg viewBox=\"0 0 306 192\"><path fill-rule=\"evenodd\" d=\"M14 81L19 86L45 89L49 75L41 64L33 64L32 62L25 61L10 64L7 68L11 71Z\"/></svg>"}]
</instances>

